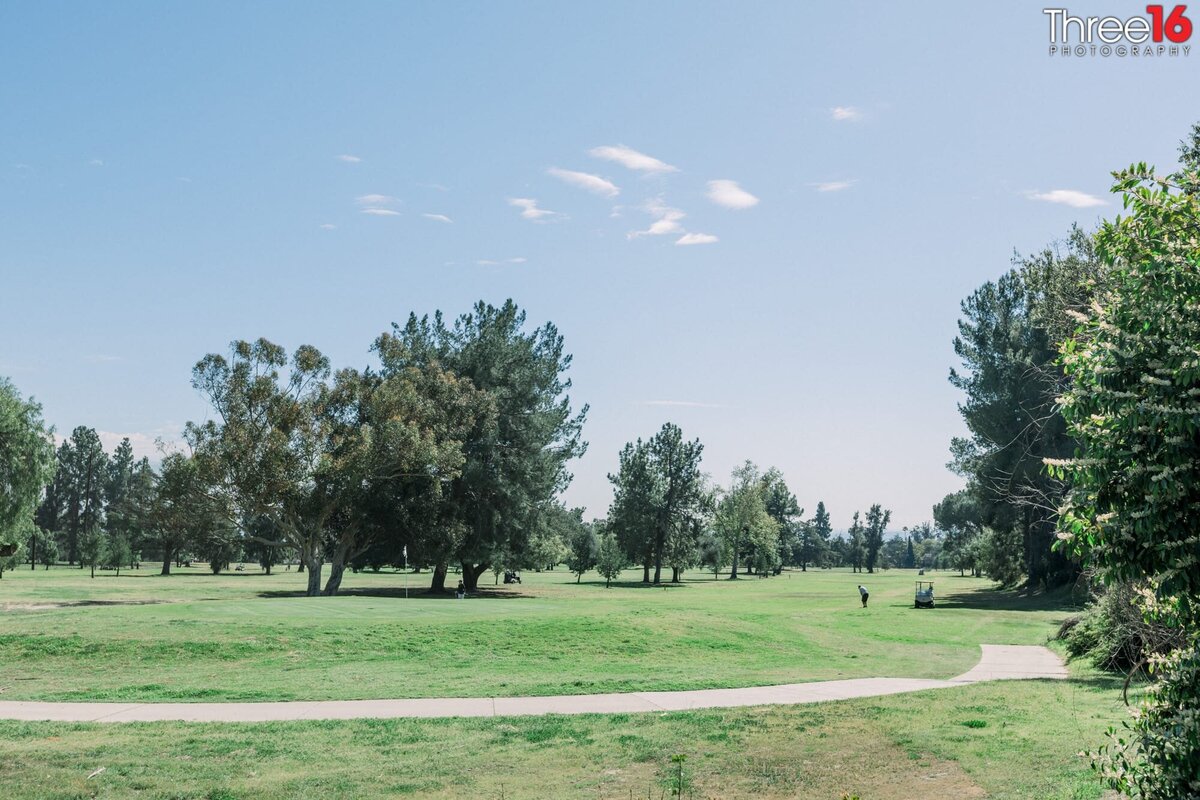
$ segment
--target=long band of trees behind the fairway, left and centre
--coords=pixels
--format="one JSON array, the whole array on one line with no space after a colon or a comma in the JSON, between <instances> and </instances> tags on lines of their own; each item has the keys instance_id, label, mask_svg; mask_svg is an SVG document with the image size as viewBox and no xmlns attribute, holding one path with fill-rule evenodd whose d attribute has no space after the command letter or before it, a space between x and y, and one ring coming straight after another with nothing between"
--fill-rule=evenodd
<instances>
[{"instance_id":1,"label":"long band of trees behind the fairway, left and centre","mask_svg":"<svg viewBox=\"0 0 1200 800\"><path fill-rule=\"evenodd\" d=\"M564 563L577 581L596 570L608 582L636 565L654 584L696 569L736 579L898 564L882 506L835 536L824 504L805 518L778 469L745 462L713 485L703 446L672 423L618 453L607 518L584 522L559 500L586 450L571 356L511 301L454 321L410 314L371 349L377 366L361 369L268 339L204 356L192 385L211 414L157 469L128 439L106 452L85 426L54 450L38 417L20 558L92 575L143 560L163 575L193 560L212 572L296 563L308 595L336 594L347 569L427 569L442 591L451 569L474 590L487 571L498 582Z\"/></svg>"}]
</instances>

